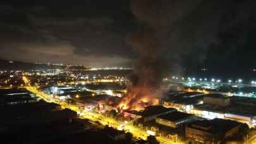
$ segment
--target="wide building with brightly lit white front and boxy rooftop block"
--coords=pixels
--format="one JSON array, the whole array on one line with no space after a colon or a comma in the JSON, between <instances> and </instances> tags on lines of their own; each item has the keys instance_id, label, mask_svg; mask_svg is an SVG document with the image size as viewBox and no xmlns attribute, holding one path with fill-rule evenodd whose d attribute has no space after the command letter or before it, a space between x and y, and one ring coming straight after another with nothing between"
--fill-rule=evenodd
<instances>
[{"instance_id":1,"label":"wide building with brightly lit white front and boxy rooftop block","mask_svg":"<svg viewBox=\"0 0 256 144\"><path fill-rule=\"evenodd\" d=\"M256 102L253 98L225 97L220 95L205 96L204 104L191 109L190 114L195 114L207 119L230 119L240 123L247 123L250 128L255 127L253 120L255 115Z\"/></svg>"}]
</instances>

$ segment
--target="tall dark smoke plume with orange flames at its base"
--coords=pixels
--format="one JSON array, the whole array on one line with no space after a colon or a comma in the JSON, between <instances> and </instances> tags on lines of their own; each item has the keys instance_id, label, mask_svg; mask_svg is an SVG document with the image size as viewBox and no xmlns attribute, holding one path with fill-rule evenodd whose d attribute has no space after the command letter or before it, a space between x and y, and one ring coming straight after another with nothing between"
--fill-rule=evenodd
<instances>
[{"instance_id":1,"label":"tall dark smoke plume with orange flames at its base","mask_svg":"<svg viewBox=\"0 0 256 144\"><path fill-rule=\"evenodd\" d=\"M135 73L131 85L119 107L141 110L152 104L160 95L160 84L167 63L162 57L165 40L172 25L183 18L199 3L196 1L131 0L131 11L140 21L140 29L131 35L131 47L139 58L135 63ZM147 103L147 104L145 104Z\"/></svg>"}]
</instances>

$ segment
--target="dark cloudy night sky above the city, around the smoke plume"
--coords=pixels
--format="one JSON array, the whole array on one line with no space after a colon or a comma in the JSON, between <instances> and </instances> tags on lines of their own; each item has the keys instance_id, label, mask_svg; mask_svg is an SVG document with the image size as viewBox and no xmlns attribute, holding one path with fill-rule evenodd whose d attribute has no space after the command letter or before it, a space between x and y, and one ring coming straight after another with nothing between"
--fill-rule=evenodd
<instances>
[{"instance_id":1,"label":"dark cloudy night sky above the city, around the smoke plume","mask_svg":"<svg viewBox=\"0 0 256 144\"><path fill-rule=\"evenodd\" d=\"M255 0L137 0L147 16L135 16L131 1L1 2L0 59L132 66L130 35L150 21L164 27L155 49L171 68L256 67Z\"/></svg>"}]
</instances>

